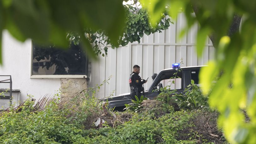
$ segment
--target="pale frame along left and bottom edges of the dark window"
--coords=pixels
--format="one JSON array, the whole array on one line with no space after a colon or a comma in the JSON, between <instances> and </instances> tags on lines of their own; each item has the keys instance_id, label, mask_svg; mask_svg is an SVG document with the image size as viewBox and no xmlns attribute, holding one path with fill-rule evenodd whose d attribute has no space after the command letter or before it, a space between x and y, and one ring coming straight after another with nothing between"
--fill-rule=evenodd
<instances>
[{"instance_id":1,"label":"pale frame along left and bottom edges of the dark window","mask_svg":"<svg viewBox=\"0 0 256 144\"><path fill-rule=\"evenodd\" d=\"M42 79L42 78L88 78L87 75L32 75L32 67L33 67L33 41L31 40L31 57L30 57L30 78L31 79Z\"/></svg>"}]
</instances>

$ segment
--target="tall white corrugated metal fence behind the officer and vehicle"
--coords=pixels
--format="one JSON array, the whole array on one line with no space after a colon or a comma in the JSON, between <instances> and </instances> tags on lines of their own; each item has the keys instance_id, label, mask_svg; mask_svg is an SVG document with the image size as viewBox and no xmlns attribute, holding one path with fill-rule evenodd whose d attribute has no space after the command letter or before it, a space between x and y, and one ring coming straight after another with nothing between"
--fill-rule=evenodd
<instances>
[{"instance_id":1,"label":"tall white corrugated metal fence behind the officer and vehicle","mask_svg":"<svg viewBox=\"0 0 256 144\"><path fill-rule=\"evenodd\" d=\"M143 79L149 77L148 82L144 84L146 90L152 83L153 73L171 68L171 64L180 63L181 59L183 59L182 67L205 65L209 59L213 59L214 47L209 38L205 44L203 56L197 56L198 24L188 30L184 37L179 38L185 24L185 15L180 13L174 25L170 25L168 30L149 36L144 35L140 44L129 43L118 49L109 47L108 57L99 57L98 61L92 62L91 87L101 84L112 75L109 83L101 86L98 98L108 97L113 91L114 96L130 92L128 79L135 64L141 67L140 76Z\"/></svg>"}]
</instances>

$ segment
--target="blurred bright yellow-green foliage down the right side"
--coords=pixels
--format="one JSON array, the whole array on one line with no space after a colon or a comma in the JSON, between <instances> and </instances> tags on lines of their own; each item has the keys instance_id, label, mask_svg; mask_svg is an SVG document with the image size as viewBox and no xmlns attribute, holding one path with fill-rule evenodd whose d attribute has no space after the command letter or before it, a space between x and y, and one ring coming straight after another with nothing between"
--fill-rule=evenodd
<instances>
[{"instance_id":1,"label":"blurred bright yellow-green foliage down the right side","mask_svg":"<svg viewBox=\"0 0 256 144\"><path fill-rule=\"evenodd\" d=\"M169 7L170 15L178 11L186 14L186 30L196 21L200 28L197 36L197 52L201 55L208 35L214 38L215 59L200 72L200 83L204 94L210 89L209 102L221 115L219 126L232 143L256 141L256 12L252 0L141 0L147 8L153 24L158 14ZM196 16L192 14L193 10ZM239 16L240 15L240 16ZM237 21L243 16L239 32ZM238 23L238 24L239 24ZM222 74L214 84L212 81ZM230 86L232 84L232 86ZM246 123L245 109L250 122Z\"/></svg>"}]
</instances>

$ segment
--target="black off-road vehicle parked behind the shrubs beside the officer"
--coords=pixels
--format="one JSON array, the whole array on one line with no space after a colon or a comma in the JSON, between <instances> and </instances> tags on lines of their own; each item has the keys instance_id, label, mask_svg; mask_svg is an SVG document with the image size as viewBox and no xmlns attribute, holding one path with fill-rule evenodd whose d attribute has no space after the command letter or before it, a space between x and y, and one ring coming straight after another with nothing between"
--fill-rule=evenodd
<instances>
[{"instance_id":1,"label":"black off-road vehicle parked behind the shrubs beside the officer","mask_svg":"<svg viewBox=\"0 0 256 144\"><path fill-rule=\"evenodd\" d=\"M199 70L204 66L192 66L192 67L181 67L173 69L164 69L159 74L153 74L153 82L144 93L144 97L149 99L156 98L161 91L159 89L163 86L170 86L171 89L176 89L177 93L182 93L186 86L194 80L195 84L198 84ZM174 78L174 76L176 78ZM172 81L175 81L173 83ZM143 94L142 94L143 95ZM120 94L119 96L105 98L108 100L109 108L122 111L125 108L125 104L131 103L130 93Z\"/></svg>"}]
</instances>

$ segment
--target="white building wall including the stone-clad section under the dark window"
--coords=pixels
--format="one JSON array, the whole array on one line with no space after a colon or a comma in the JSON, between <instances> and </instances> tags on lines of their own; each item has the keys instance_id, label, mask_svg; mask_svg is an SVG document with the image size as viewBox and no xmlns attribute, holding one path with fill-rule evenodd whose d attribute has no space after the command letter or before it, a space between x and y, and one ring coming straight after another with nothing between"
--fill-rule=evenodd
<instances>
[{"instance_id":1,"label":"white building wall including the stone-clad section under the dark window","mask_svg":"<svg viewBox=\"0 0 256 144\"><path fill-rule=\"evenodd\" d=\"M0 66L0 75L12 76L12 89L20 90L21 102L28 98L27 95L34 96L38 101L40 97L51 96L58 90L61 90L62 97L70 98L87 88L87 79L81 75L64 76L66 78L56 75L50 76L53 78L31 78L31 40L19 42L8 31L3 31L2 41L3 64ZM13 96L13 102L17 103L18 95Z\"/></svg>"}]
</instances>

